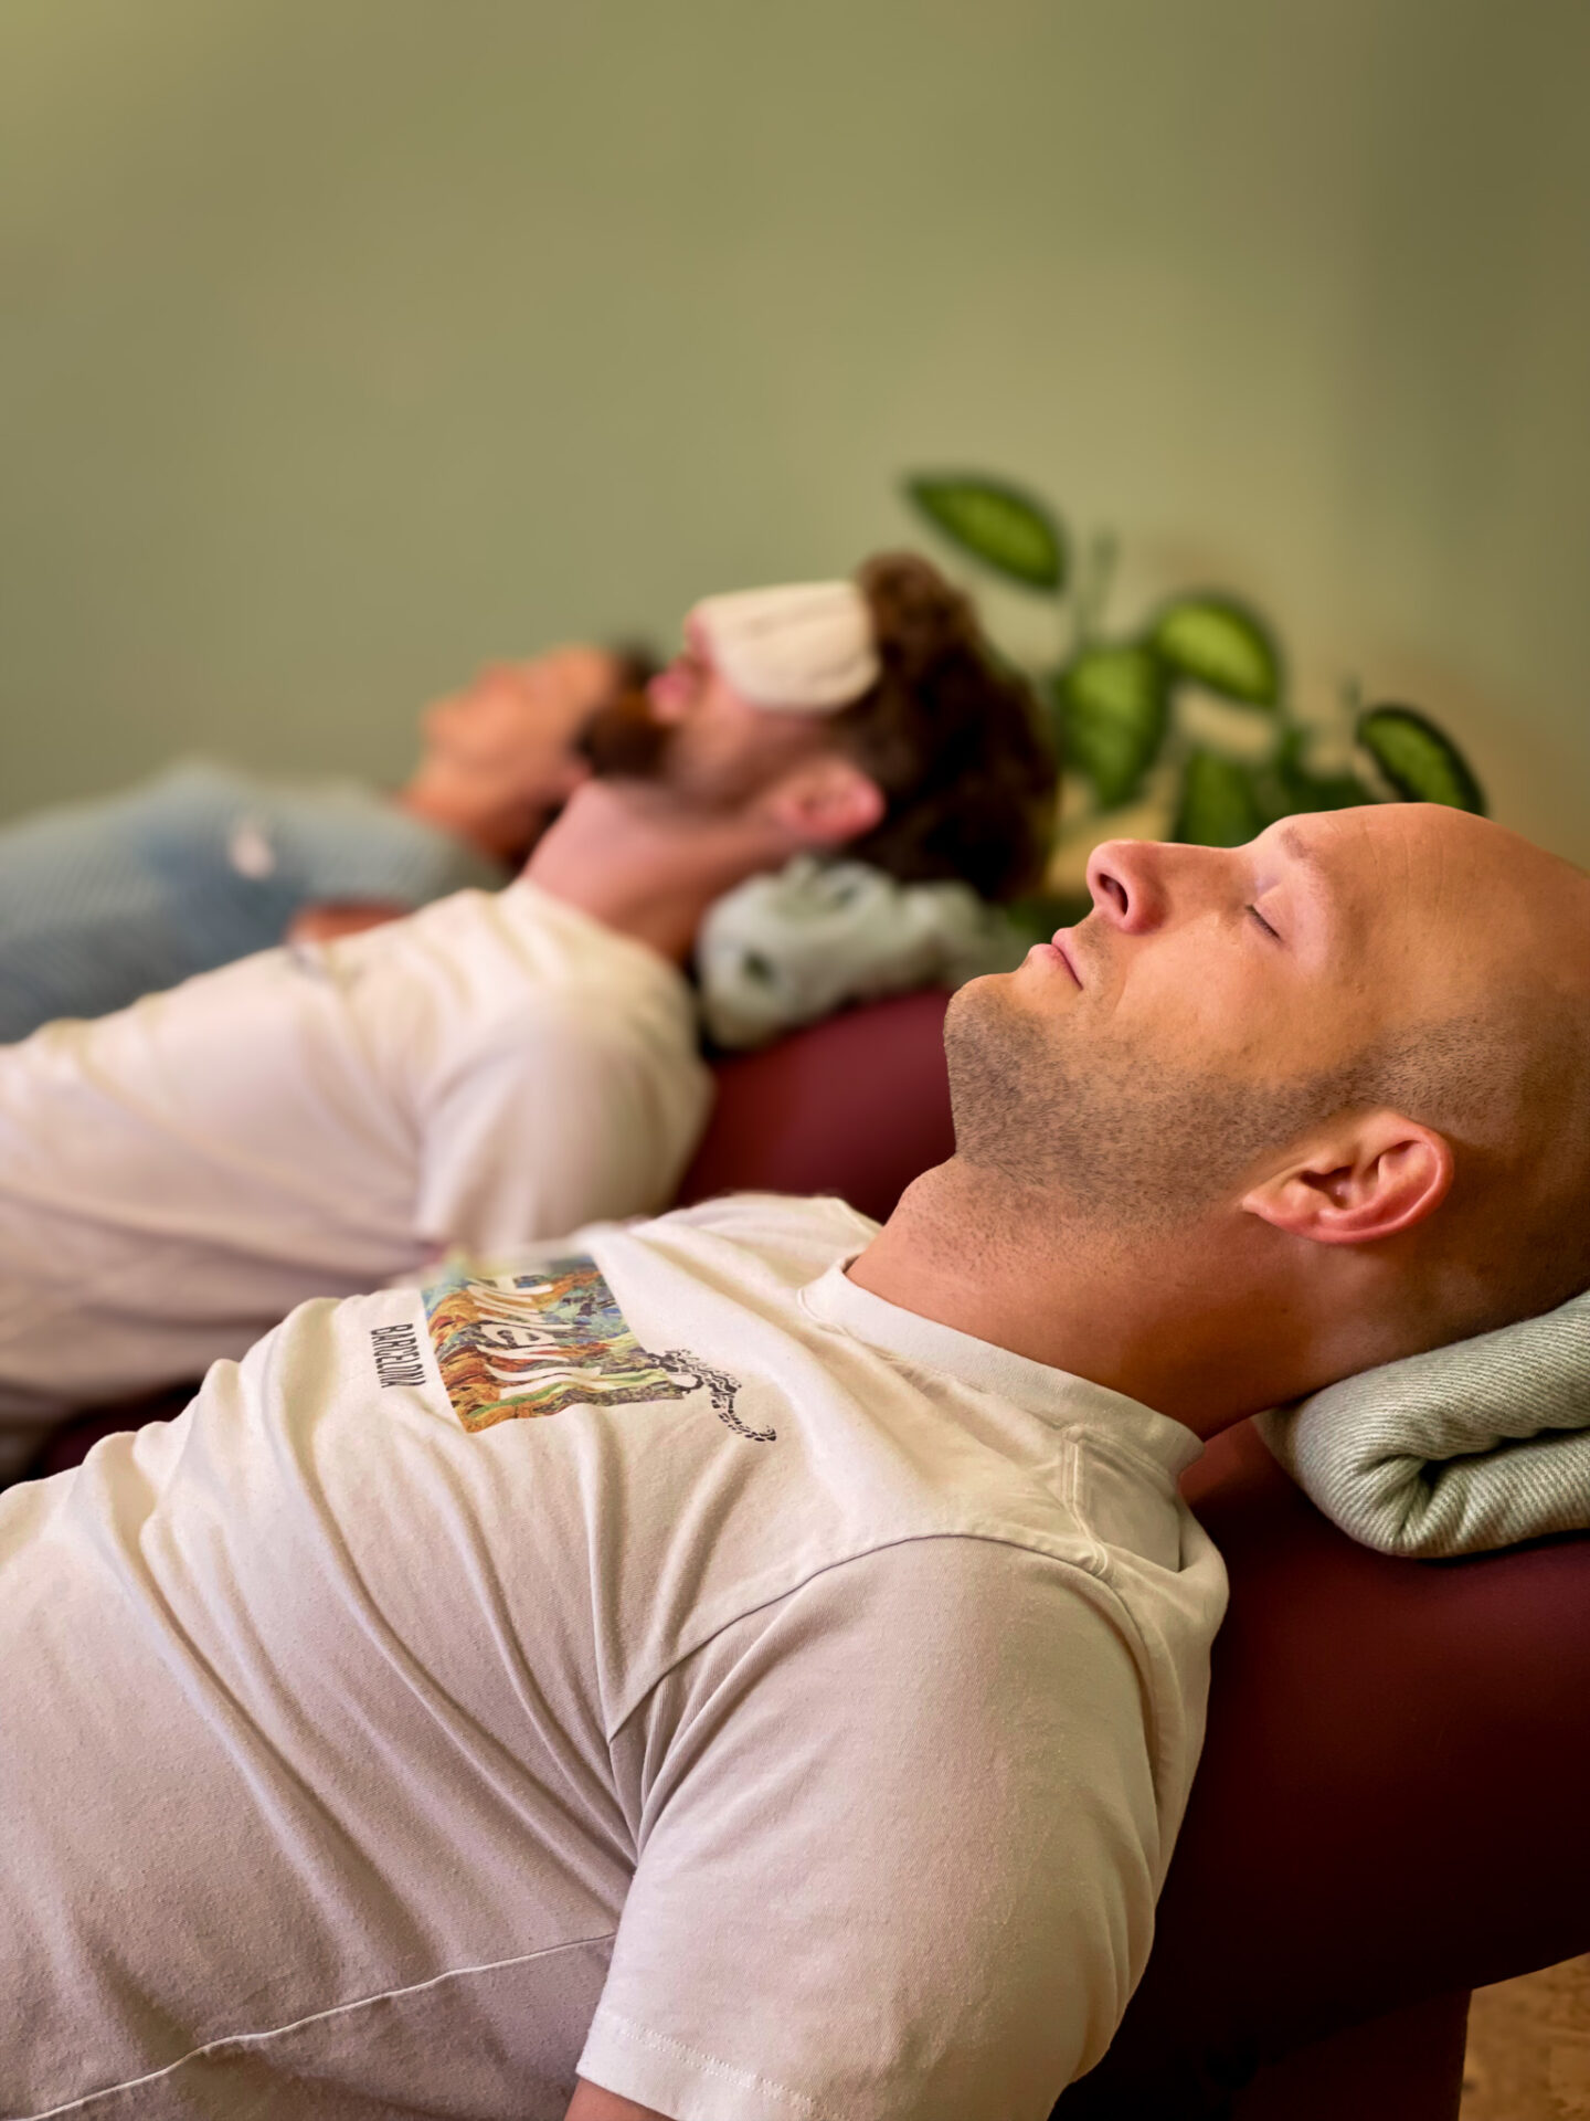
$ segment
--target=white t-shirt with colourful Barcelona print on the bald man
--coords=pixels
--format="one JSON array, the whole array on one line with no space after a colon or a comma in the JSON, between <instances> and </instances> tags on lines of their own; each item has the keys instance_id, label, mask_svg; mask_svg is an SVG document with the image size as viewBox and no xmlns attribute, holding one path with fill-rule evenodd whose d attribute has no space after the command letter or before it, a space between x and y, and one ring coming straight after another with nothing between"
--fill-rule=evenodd
<instances>
[{"instance_id":1,"label":"white t-shirt with colourful Barcelona print on the bald man","mask_svg":"<svg viewBox=\"0 0 1590 2121\"><path fill-rule=\"evenodd\" d=\"M871 1232L310 1302L0 1495L0 2110L1043 2121L1225 1576L1187 1430L859 1290Z\"/></svg>"}]
</instances>

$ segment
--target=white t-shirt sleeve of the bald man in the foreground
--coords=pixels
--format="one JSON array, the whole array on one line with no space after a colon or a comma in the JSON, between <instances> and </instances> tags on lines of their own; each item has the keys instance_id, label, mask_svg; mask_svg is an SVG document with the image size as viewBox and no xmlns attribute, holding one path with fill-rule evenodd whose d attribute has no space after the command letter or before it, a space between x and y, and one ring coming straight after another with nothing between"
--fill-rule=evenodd
<instances>
[{"instance_id":1,"label":"white t-shirt sleeve of the bald man in the foreground","mask_svg":"<svg viewBox=\"0 0 1590 2121\"><path fill-rule=\"evenodd\" d=\"M1043 2121L1162 1875L1113 1595L996 1540L812 1578L619 1733L638 1866L581 2074L672 2121Z\"/></svg>"}]
</instances>

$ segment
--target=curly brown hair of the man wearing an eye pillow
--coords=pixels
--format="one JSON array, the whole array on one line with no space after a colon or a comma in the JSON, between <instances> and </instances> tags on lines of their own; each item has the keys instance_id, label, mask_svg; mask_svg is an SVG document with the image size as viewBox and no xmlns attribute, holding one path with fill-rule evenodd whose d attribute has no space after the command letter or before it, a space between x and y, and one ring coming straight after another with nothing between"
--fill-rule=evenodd
<instances>
[{"instance_id":1,"label":"curly brown hair of the man wearing an eye pillow","mask_svg":"<svg viewBox=\"0 0 1590 2121\"><path fill-rule=\"evenodd\" d=\"M876 554L856 585L884 668L829 732L886 808L846 855L907 884L960 880L986 899L1030 891L1060 781L1030 685L994 662L971 598L918 554Z\"/></svg>"}]
</instances>

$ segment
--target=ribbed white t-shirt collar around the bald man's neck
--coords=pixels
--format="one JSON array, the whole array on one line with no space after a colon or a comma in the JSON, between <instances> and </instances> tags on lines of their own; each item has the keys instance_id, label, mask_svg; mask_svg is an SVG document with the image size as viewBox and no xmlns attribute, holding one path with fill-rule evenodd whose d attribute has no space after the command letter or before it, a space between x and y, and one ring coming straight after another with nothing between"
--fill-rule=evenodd
<instances>
[{"instance_id":1,"label":"ribbed white t-shirt collar around the bald man's neck","mask_svg":"<svg viewBox=\"0 0 1590 2121\"><path fill-rule=\"evenodd\" d=\"M1047 1362L1032 1362L1030 1355L1018 1355L992 1340L977 1340L916 1311L901 1311L899 1304L859 1287L846 1275L854 1258L852 1251L835 1260L801 1290L803 1309L823 1326L854 1334L856 1340L901 1355L922 1370L954 1377L975 1391L1011 1400L1043 1421L1109 1430L1147 1451L1172 1474L1200 1457L1204 1449L1200 1436L1124 1391L1096 1385L1088 1377L1073 1377L1071 1370L1054 1370Z\"/></svg>"}]
</instances>

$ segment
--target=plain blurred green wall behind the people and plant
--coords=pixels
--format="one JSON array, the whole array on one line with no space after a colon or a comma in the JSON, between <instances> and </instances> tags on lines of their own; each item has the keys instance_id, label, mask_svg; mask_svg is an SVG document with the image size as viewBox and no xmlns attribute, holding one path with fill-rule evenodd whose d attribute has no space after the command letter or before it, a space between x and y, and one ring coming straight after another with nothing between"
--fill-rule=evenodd
<instances>
[{"instance_id":1,"label":"plain blurred green wall behind the people and plant","mask_svg":"<svg viewBox=\"0 0 1590 2121\"><path fill-rule=\"evenodd\" d=\"M1590 859L1577 0L6 0L0 812L1109 522Z\"/></svg>"}]
</instances>

